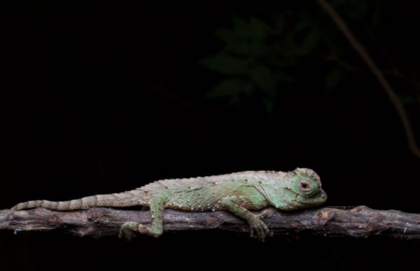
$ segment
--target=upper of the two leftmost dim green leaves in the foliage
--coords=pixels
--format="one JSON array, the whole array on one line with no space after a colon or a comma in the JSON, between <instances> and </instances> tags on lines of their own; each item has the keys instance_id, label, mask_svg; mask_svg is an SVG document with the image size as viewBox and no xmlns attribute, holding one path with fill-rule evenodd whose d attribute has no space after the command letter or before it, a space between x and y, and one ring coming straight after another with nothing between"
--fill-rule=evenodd
<instances>
[{"instance_id":1,"label":"upper of the two leftmost dim green leaves in the foliage","mask_svg":"<svg viewBox=\"0 0 420 271\"><path fill-rule=\"evenodd\" d=\"M203 59L201 63L207 68L225 74L242 75L246 73L248 68L248 59L239 59L224 53Z\"/></svg>"}]
</instances>

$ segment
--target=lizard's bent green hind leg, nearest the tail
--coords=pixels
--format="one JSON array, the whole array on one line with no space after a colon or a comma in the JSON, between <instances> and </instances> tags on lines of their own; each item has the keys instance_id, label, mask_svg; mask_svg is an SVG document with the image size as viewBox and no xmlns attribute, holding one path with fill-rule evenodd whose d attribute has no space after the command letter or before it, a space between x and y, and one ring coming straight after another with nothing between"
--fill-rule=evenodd
<instances>
[{"instance_id":1,"label":"lizard's bent green hind leg, nearest the tail","mask_svg":"<svg viewBox=\"0 0 420 271\"><path fill-rule=\"evenodd\" d=\"M164 194L156 195L151 199L151 226L145 226L134 221L127 221L120 228L119 237L125 237L130 240L134 233L143 233L151 235L153 237L159 237L163 233L163 211L165 203L167 202L167 196Z\"/></svg>"}]
</instances>

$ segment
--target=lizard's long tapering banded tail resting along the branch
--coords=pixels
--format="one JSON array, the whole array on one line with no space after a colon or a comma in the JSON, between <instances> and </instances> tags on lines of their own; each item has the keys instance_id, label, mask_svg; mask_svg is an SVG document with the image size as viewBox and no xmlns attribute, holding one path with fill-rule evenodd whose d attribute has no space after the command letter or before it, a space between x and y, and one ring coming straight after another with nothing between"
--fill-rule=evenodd
<instances>
[{"instance_id":1,"label":"lizard's long tapering banded tail resting along the branch","mask_svg":"<svg viewBox=\"0 0 420 271\"><path fill-rule=\"evenodd\" d=\"M146 204L146 193L139 189L123 193L87 196L76 200L50 201L29 200L12 207L12 210L25 210L43 207L49 210L86 210L90 207L130 207Z\"/></svg>"}]
</instances>

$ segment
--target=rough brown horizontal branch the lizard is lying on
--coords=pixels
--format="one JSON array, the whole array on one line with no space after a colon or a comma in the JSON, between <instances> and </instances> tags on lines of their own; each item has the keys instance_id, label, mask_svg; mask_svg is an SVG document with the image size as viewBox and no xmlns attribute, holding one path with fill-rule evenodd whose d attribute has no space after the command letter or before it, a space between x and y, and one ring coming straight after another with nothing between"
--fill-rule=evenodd
<instances>
[{"instance_id":1,"label":"rough brown horizontal branch the lizard is lying on","mask_svg":"<svg viewBox=\"0 0 420 271\"><path fill-rule=\"evenodd\" d=\"M257 213L255 213L257 214ZM365 206L344 210L323 207L302 212L280 212L268 208L260 215L274 235L307 233L323 236L370 237L386 235L402 240L420 240L420 214L396 210L373 210ZM69 233L100 237L118 235L125 221L150 224L148 211L92 208L59 212L36 208L25 211L1 210L0 229L53 230L61 228ZM181 212L165 210L165 232L187 230L229 230L247 232L248 226L228 212Z\"/></svg>"}]
</instances>

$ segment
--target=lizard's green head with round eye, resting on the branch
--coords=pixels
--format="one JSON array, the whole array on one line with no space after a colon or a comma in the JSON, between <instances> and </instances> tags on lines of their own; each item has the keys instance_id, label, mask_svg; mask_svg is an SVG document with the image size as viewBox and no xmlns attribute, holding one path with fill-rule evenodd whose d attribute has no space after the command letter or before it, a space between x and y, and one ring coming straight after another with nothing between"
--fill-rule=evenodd
<instances>
[{"instance_id":1,"label":"lizard's green head with round eye, resting on the branch","mask_svg":"<svg viewBox=\"0 0 420 271\"><path fill-rule=\"evenodd\" d=\"M321 189L319 176L309 168L296 168L287 173L286 200L290 209L322 205L327 194Z\"/></svg>"}]
</instances>

